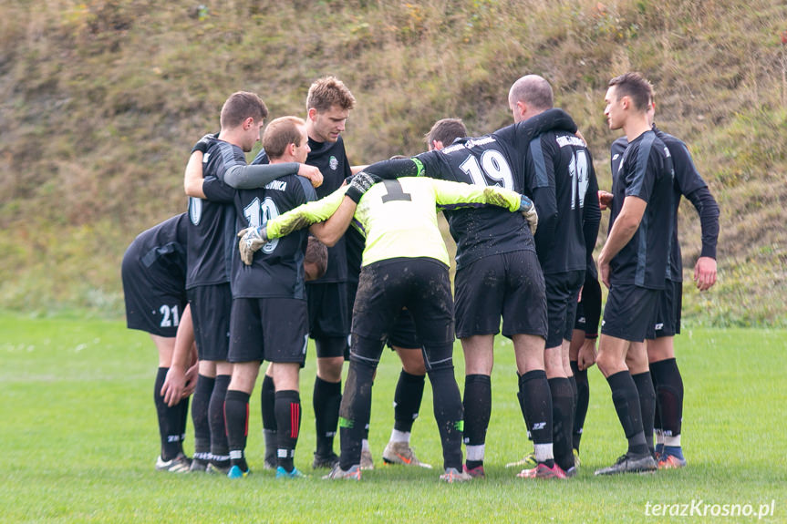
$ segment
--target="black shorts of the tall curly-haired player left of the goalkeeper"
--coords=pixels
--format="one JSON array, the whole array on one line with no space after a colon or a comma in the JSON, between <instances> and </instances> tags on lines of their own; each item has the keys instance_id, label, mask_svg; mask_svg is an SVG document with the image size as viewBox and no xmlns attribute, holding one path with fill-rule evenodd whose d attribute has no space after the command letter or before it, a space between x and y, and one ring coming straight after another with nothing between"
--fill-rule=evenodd
<instances>
[{"instance_id":1,"label":"black shorts of the tall curly-haired player left of the goalkeeper","mask_svg":"<svg viewBox=\"0 0 787 524\"><path fill-rule=\"evenodd\" d=\"M309 335L321 338L341 338L347 341L349 334L349 313L347 304L347 283L306 283L308 298ZM323 355L317 356L340 356Z\"/></svg>"}]
</instances>

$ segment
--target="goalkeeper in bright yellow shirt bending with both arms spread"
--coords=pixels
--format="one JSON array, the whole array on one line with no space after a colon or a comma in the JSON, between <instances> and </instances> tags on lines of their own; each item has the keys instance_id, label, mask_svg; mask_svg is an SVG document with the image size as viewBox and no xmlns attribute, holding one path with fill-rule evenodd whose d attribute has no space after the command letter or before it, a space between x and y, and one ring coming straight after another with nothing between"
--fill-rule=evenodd
<instances>
[{"instance_id":1,"label":"goalkeeper in bright yellow shirt bending with both arms spread","mask_svg":"<svg viewBox=\"0 0 787 524\"><path fill-rule=\"evenodd\" d=\"M412 164L410 160L401 161ZM277 237L288 232L294 224L302 224L305 216L326 220L332 210L341 211L347 200L356 200L352 188L353 184L347 189L347 198L342 191L337 191L316 202L320 211L306 210L304 206L292 211L291 216L285 214L269 221L265 231L247 231L241 241L242 252L244 245L250 245L247 239L253 234L258 238L263 233ZM341 205L337 198L343 199ZM368 424L371 383L382 352L383 334L388 333L402 307L407 307L424 345L427 373L434 392L434 413L440 429L445 469L440 479L447 482L470 480L469 474L461 472L462 408L451 357L453 301L448 253L434 210L436 205L455 207L486 202L509 211L528 213L533 221L536 220L533 204L518 193L495 186L481 188L420 178L386 180L372 186L357 200L355 218L358 227L366 233L367 247L353 311L350 368L342 400L342 454L338 466L327 478L360 478L361 438ZM338 220L336 216L326 223ZM347 219L346 225L348 223Z\"/></svg>"}]
</instances>

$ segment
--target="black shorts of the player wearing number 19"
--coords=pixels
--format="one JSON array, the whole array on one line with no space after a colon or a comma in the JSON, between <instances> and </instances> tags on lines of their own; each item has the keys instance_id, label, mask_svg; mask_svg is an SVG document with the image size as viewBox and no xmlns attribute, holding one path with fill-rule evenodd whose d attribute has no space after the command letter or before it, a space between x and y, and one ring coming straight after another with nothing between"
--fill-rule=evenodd
<instances>
[{"instance_id":1,"label":"black shorts of the player wearing number 19","mask_svg":"<svg viewBox=\"0 0 787 524\"><path fill-rule=\"evenodd\" d=\"M456 272L456 334L546 336L544 274L535 252L495 254Z\"/></svg>"}]
</instances>

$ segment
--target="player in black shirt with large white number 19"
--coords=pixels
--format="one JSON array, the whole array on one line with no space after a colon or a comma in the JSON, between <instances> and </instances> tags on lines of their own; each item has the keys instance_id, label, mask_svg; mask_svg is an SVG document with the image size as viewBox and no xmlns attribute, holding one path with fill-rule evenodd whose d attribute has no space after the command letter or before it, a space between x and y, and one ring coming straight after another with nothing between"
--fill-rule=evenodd
<instances>
[{"instance_id":1,"label":"player in black shirt with large white number 19","mask_svg":"<svg viewBox=\"0 0 787 524\"><path fill-rule=\"evenodd\" d=\"M476 185L501 184L524 189L524 157L528 144L550 128L575 131L574 121L554 109L477 139L463 139L412 160L373 164L368 172L388 178L391 172L425 175ZM403 162L403 164L395 163ZM401 166L399 168L399 166ZM392 169L396 168L396 169ZM531 228L494 208L446 210L450 233L457 243L456 329L465 356L464 410L467 462L474 477L483 477L486 430L492 409L494 335L513 340L521 405L535 428L541 477L560 477L552 447L552 405L544 374L546 303L544 277L537 262ZM523 391L526 393L523 394Z\"/></svg>"}]
</instances>

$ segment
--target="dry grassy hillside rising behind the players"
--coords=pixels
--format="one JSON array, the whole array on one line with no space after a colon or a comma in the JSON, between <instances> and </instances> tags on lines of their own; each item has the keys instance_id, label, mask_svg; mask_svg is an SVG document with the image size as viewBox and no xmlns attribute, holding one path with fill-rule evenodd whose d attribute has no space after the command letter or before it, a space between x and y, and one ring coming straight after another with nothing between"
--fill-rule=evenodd
<instances>
[{"instance_id":1,"label":"dry grassy hillside rising behind the players","mask_svg":"<svg viewBox=\"0 0 787 524\"><path fill-rule=\"evenodd\" d=\"M349 156L368 163L419 152L438 118L510 123L508 87L537 73L608 189L606 82L637 69L722 210L720 282L687 290L687 318L787 325L782 0L0 4L0 308L121 314L125 247L185 209L188 150L235 90L303 115L311 81L337 75L358 102ZM689 276L699 221L682 207Z\"/></svg>"}]
</instances>

